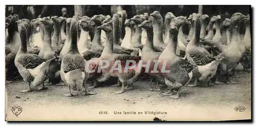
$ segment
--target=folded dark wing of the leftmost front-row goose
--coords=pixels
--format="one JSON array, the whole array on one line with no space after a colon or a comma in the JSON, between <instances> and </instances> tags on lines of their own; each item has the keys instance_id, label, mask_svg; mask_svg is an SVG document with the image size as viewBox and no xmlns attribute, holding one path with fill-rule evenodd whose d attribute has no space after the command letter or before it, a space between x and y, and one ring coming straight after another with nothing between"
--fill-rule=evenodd
<instances>
[{"instance_id":1,"label":"folded dark wing of the leftmost front-row goose","mask_svg":"<svg viewBox=\"0 0 256 126\"><path fill-rule=\"evenodd\" d=\"M47 60L40 58L35 54L26 54L22 57L19 57L18 63L26 69L33 69Z\"/></svg>"}]
</instances>

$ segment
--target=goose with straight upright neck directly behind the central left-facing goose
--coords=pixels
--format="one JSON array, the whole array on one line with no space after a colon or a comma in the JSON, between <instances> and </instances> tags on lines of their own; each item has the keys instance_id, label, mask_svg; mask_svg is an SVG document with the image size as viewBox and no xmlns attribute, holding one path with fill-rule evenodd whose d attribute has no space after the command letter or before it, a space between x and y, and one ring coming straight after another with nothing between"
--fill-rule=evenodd
<instances>
[{"instance_id":1,"label":"goose with straight upright neck directly behind the central left-facing goose","mask_svg":"<svg viewBox=\"0 0 256 126\"><path fill-rule=\"evenodd\" d=\"M117 25L114 25L114 23L117 23ZM130 55L131 53L133 53L136 50L133 49L129 49L129 48L124 48L121 47L118 43L119 41L119 35L120 35L120 27L119 27L119 18L117 14L113 14L113 35L114 35L114 40L113 40L113 49L114 49L114 53L116 54L126 54L126 55Z\"/></svg>"}]
</instances>

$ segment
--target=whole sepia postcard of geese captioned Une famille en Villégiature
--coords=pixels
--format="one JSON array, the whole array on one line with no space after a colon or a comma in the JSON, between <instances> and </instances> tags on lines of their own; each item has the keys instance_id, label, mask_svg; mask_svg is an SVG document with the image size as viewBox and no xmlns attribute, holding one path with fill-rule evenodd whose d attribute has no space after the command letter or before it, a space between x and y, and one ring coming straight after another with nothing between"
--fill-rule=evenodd
<instances>
[{"instance_id":1,"label":"whole sepia postcard of geese captioned Une famille en Vill\u00e9giature","mask_svg":"<svg viewBox=\"0 0 256 126\"><path fill-rule=\"evenodd\" d=\"M251 5L45 4L5 5L5 121L251 121Z\"/></svg>"}]
</instances>

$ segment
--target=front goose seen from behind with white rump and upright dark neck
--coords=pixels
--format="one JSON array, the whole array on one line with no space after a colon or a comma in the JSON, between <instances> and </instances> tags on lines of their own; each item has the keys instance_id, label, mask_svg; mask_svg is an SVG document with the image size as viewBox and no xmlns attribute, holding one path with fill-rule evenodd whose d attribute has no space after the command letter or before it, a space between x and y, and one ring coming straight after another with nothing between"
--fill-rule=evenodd
<instances>
[{"instance_id":1,"label":"front goose seen from behind with white rump and upright dark neck","mask_svg":"<svg viewBox=\"0 0 256 126\"><path fill-rule=\"evenodd\" d=\"M82 88L85 89L83 95L93 95L97 94L96 92L89 91L86 87L86 81L88 75L84 71L86 62L83 57L79 54L77 48L77 36L78 36L78 25L77 19L71 18L70 21L70 33L71 33L71 43L67 54L62 58L60 65L60 77L65 85L69 86L70 93L64 94L64 96L75 96L72 91L82 91Z\"/></svg>"}]
</instances>

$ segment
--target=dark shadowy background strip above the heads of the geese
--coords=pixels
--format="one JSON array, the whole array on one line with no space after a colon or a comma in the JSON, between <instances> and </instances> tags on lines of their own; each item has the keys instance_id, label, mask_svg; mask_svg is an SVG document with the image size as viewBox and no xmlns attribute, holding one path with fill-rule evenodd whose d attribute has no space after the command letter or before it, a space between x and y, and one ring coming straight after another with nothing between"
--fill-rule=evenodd
<instances>
[{"instance_id":1,"label":"dark shadowy background strip above the heads of the geese","mask_svg":"<svg viewBox=\"0 0 256 126\"><path fill-rule=\"evenodd\" d=\"M6 5L6 16L10 14L18 14L19 18L27 18L29 20L45 16L61 16L61 9L67 8L67 14L69 17L74 15L74 5L14 5L13 9L8 10L8 7L12 5ZM34 15L31 11L28 11L28 7L33 6ZM133 15L143 14L145 12L152 13L153 11L159 11L162 16L167 12L172 12L175 16L189 16L191 13L198 12L197 5L121 5L123 10L127 12L127 18L132 18ZM117 5L83 5L83 15L92 17L95 14L113 15L117 10ZM233 13L240 12L242 14L250 13L250 5L204 5L203 14L209 16L221 15L225 18L230 18Z\"/></svg>"}]
</instances>

